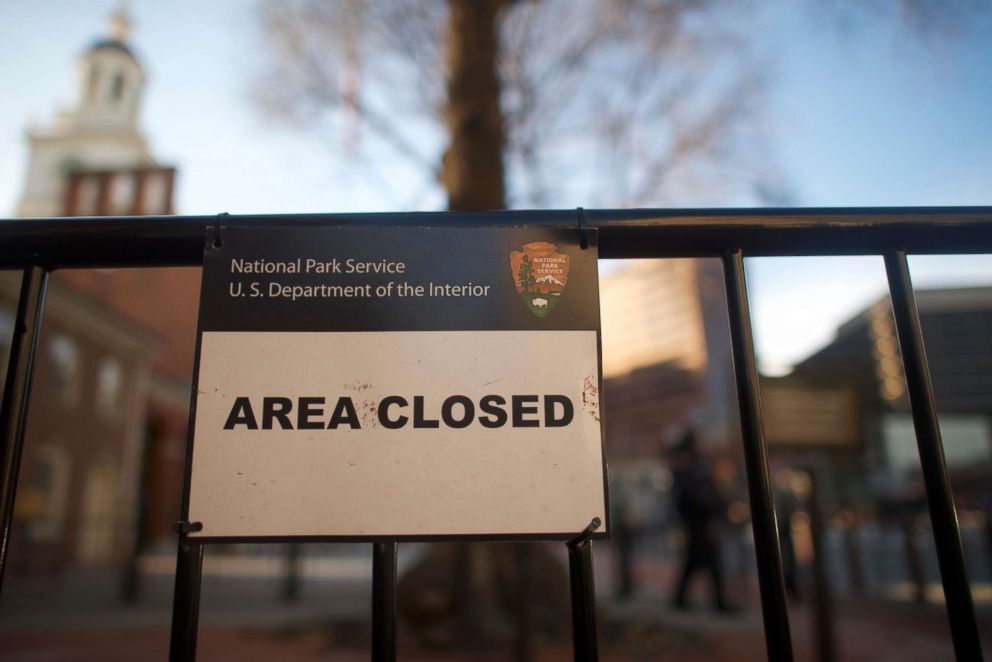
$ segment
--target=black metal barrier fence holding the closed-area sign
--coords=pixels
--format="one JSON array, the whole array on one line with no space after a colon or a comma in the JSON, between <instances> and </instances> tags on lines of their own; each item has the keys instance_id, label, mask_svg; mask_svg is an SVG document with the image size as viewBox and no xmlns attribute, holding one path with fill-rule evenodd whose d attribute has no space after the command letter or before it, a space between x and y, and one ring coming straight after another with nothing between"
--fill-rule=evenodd
<instances>
[{"instance_id":1,"label":"black metal barrier fence holding the closed-area sign","mask_svg":"<svg viewBox=\"0 0 992 662\"><path fill-rule=\"evenodd\" d=\"M951 638L958 660L982 651L964 564L957 513L937 425L919 314L907 254L992 253L992 208L746 209L504 211L488 213L317 214L52 218L0 221L0 269L23 269L0 411L0 589L10 542L17 474L24 442L31 373L48 274L69 267L202 264L205 240L221 225L541 226L595 228L602 258L720 257L730 314L761 608L770 660L792 660L782 559L763 439L758 372L751 335L744 258L795 255L882 255L916 428ZM195 654L202 545L180 532L172 655ZM576 659L596 658L588 540L573 541L570 558ZM376 543L373 563L373 658L395 655L395 542ZM185 553L184 553L185 552ZM192 568L184 568L192 564ZM196 577L196 585L183 578ZM178 622L177 622L178 621ZM190 646L192 642L192 646Z\"/></svg>"}]
</instances>

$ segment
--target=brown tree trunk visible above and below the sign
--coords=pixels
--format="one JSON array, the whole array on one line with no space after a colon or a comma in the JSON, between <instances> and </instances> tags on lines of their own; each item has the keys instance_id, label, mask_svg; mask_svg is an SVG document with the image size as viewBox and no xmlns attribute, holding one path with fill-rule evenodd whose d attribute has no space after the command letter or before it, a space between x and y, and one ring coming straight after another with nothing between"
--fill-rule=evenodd
<instances>
[{"instance_id":1,"label":"brown tree trunk visible above and below the sign","mask_svg":"<svg viewBox=\"0 0 992 662\"><path fill-rule=\"evenodd\" d=\"M508 0L449 0L448 99L451 143L441 181L448 208L502 209L503 116L500 9ZM509 643L518 662L533 658L536 631L568 623L568 580L539 544L438 543L400 580L399 610L422 643L491 648Z\"/></svg>"}]
</instances>

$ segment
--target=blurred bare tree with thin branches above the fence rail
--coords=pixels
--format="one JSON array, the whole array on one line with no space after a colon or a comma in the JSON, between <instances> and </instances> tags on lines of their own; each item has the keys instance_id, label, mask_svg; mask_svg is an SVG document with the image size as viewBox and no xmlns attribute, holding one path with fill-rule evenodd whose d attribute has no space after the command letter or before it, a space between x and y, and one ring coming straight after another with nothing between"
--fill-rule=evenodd
<instances>
[{"instance_id":1,"label":"blurred bare tree with thin branches above the fence rail","mask_svg":"<svg viewBox=\"0 0 992 662\"><path fill-rule=\"evenodd\" d=\"M726 198L767 179L750 4L269 1L259 97L452 209Z\"/></svg>"}]
</instances>

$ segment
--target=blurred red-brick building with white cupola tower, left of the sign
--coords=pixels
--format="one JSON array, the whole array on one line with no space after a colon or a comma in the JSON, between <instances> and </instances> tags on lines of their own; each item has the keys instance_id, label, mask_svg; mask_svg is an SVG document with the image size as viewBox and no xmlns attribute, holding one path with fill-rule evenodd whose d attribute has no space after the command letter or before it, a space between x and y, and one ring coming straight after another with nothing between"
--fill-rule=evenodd
<instances>
[{"instance_id":1,"label":"blurred red-brick building with white cupola tower, left of the sign","mask_svg":"<svg viewBox=\"0 0 992 662\"><path fill-rule=\"evenodd\" d=\"M146 76L129 37L127 14L115 12L106 36L77 60L72 105L27 131L22 216L172 212L175 169L158 163L139 127ZM16 278L0 282L0 319L8 325L16 290ZM135 542L173 540L198 296L198 269L52 275L15 562L49 571L119 563Z\"/></svg>"}]
</instances>

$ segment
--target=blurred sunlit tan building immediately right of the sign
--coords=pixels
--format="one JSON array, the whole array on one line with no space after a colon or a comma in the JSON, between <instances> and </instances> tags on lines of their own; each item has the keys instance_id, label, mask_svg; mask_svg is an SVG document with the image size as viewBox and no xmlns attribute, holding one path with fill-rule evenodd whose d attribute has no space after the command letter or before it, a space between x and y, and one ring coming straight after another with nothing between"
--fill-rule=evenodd
<instances>
[{"instance_id":1,"label":"blurred sunlit tan building immediately right of the sign","mask_svg":"<svg viewBox=\"0 0 992 662\"><path fill-rule=\"evenodd\" d=\"M631 261L600 279L610 463L660 460L688 426L739 439L723 267L715 259Z\"/></svg>"}]
</instances>

